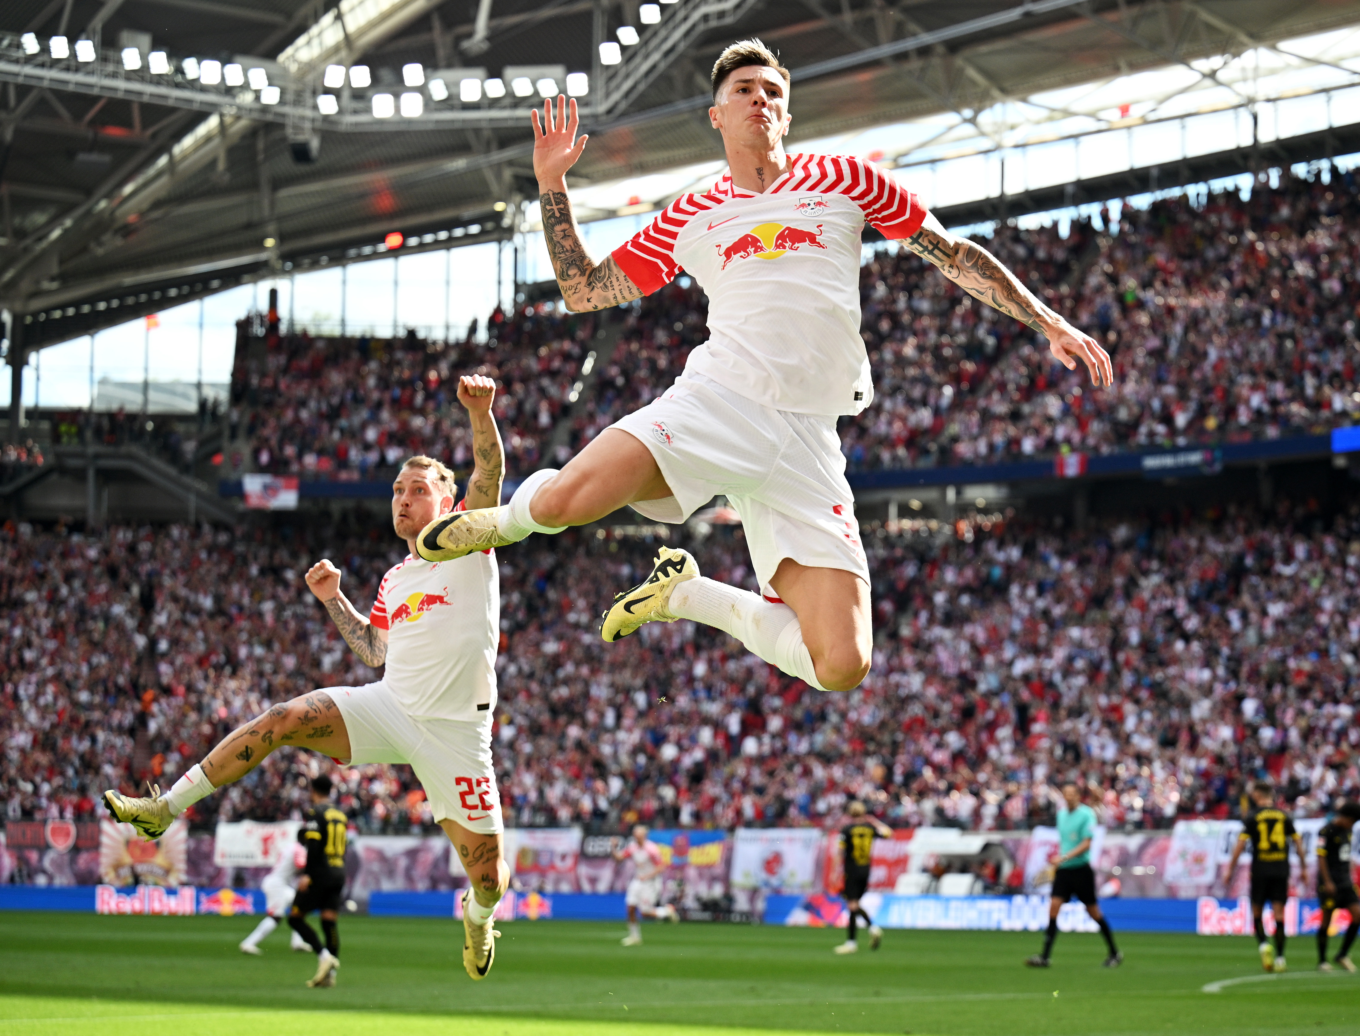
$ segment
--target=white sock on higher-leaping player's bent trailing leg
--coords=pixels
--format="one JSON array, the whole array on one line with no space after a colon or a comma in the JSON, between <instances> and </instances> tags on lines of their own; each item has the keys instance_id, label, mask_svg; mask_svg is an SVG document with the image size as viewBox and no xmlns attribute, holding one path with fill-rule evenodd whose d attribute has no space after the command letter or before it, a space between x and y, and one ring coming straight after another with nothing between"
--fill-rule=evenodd
<instances>
[{"instance_id":1,"label":"white sock on higher-leaping player's bent trailing leg","mask_svg":"<svg viewBox=\"0 0 1360 1036\"><path fill-rule=\"evenodd\" d=\"M802 643L798 616L785 604L771 604L749 590L699 576L677 583L666 610L679 619L692 619L732 634L747 650L760 655L781 672L796 676L819 691L817 670Z\"/></svg>"}]
</instances>

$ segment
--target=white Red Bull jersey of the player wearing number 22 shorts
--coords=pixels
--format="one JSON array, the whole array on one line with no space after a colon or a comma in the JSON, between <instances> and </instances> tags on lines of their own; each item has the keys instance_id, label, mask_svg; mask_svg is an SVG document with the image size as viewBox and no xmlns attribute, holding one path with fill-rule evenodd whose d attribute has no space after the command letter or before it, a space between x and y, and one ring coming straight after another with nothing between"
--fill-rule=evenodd
<instances>
[{"instance_id":1,"label":"white Red Bull jersey of the player wearing number 22 shorts","mask_svg":"<svg viewBox=\"0 0 1360 1036\"><path fill-rule=\"evenodd\" d=\"M464 510L458 502L456 510ZM496 704L500 572L494 551L388 570L369 613L388 631L382 681L415 719L480 719Z\"/></svg>"}]
</instances>

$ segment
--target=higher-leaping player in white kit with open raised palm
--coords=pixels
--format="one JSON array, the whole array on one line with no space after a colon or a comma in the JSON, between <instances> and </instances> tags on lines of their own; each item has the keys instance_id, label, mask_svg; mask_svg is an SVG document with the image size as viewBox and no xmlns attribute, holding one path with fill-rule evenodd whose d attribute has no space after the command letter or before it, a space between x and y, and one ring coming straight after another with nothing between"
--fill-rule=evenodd
<instances>
[{"instance_id":1,"label":"higher-leaping player in white kit with open raised palm","mask_svg":"<svg viewBox=\"0 0 1360 1036\"><path fill-rule=\"evenodd\" d=\"M503 507L447 515L416 541L427 560L586 525L624 504L683 522L725 495L745 529L760 593L699 576L662 548L651 575L615 598L608 642L643 623L692 619L726 631L790 676L849 691L869 672L869 570L836 417L873 401L860 337L860 232L872 223L971 295L1047 336L1069 370L1111 383L1095 339L1035 298L986 249L945 230L914 194L860 158L790 155L787 69L758 39L713 68L709 118L726 174L683 194L593 262L567 198L581 158L577 103L533 113L543 231L567 309L651 294L681 269L709 295L709 341L661 398L604 430L560 472L529 476ZM568 114L570 113L570 114Z\"/></svg>"}]
</instances>

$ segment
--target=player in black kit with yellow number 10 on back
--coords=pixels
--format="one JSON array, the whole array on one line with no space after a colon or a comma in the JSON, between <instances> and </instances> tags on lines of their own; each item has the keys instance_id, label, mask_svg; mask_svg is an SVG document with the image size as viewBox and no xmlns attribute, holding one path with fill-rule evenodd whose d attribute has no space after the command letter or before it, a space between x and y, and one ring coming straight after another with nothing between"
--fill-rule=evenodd
<instances>
[{"instance_id":1,"label":"player in black kit with yellow number 10 on back","mask_svg":"<svg viewBox=\"0 0 1360 1036\"><path fill-rule=\"evenodd\" d=\"M311 809L302 817L298 842L307 850L307 865L298 880L298 895L288 911L288 925L317 954L317 973L307 986L335 986L340 968L340 899L344 895L344 850L350 818L330 805L330 778L324 774L311 782ZM321 930L326 945L321 945L316 929L307 923L307 914L321 911Z\"/></svg>"}]
</instances>

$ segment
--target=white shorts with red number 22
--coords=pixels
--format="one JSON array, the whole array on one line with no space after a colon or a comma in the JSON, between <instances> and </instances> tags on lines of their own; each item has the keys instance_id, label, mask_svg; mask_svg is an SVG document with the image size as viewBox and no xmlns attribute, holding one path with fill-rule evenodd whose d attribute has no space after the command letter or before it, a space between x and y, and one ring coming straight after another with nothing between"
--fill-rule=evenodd
<instances>
[{"instance_id":1,"label":"white shorts with red number 22","mask_svg":"<svg viewBox=\"0 0 1360 1036\"><path fill-rule=\"evenodd\" d=\"M416 771L434 818L468 831L505 831L491 765L491 711L483 719L415 719L379 680L324 688L350 733L350 763L407 763Z\"/></svg>"}]
</instances>

